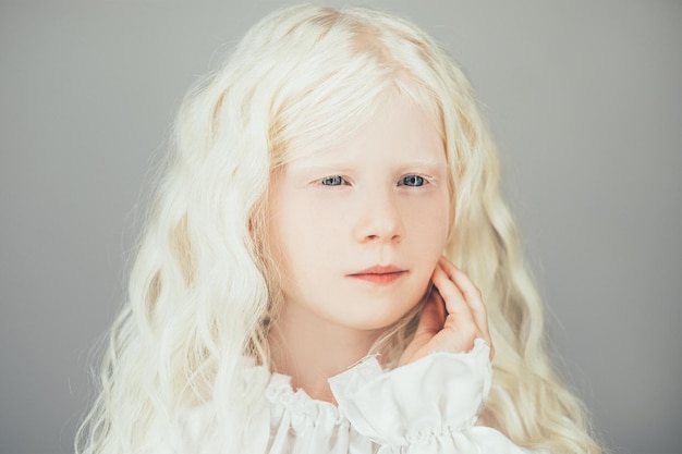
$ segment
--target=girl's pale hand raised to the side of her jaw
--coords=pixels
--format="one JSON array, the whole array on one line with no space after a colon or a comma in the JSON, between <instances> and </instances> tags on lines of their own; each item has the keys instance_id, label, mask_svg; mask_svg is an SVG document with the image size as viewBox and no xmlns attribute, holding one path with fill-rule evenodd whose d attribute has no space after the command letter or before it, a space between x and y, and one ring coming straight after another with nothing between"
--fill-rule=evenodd
<instances>
[{"instance_id":1,"label":"girl's pale hand raised to the side of her jaw","mask_svg":"<svg viewBox=\"0 0 682 454\"><path fill-rule=\"evenodd\" d=\"M480 291L459 268L441 257L431 277L434 287L422 308L414 339L399 365L415 361L433 352L468 352L482 338L495 356L488 315Z\"/></svg>"}]
</instances>

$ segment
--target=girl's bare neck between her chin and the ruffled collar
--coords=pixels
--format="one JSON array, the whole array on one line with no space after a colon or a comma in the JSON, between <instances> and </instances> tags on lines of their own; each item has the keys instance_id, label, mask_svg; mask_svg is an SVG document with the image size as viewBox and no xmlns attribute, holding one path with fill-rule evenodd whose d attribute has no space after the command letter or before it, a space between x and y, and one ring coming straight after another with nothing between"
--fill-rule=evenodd
<instances>
[{"instance_id":1,"label":"girl's bare neck between her chin and the ruffled collar","mask_svg":"<svg viewBox=\"0 0 682 454\"><path fill-rule=\"evenodd\" d=\"M290 376L294 390L302 388L313 398L334 403L327 380L364 358L379 334L326 322L284 305L268 342L275 370Z\"/></svg>"}]
</instances>

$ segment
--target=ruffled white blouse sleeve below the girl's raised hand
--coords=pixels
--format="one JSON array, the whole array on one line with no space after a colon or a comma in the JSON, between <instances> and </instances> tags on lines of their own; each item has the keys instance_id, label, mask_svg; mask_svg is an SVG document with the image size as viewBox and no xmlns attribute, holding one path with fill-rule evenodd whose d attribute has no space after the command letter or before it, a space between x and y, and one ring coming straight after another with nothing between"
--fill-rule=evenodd
<instances>
[{"instance_id":1,"label":"ruffled white blouse sleeve below the girl's raised hand","mask_svg":"<svg viewBox=\"0 0 682 454\"><path fill-rule=\"evenodd\" d=\"M379 453L531 453L499 431L474 426L490 390L489 347L433 353L391 371L369 357L332 377L339 409Z\"/></svg>"}]
</instances>

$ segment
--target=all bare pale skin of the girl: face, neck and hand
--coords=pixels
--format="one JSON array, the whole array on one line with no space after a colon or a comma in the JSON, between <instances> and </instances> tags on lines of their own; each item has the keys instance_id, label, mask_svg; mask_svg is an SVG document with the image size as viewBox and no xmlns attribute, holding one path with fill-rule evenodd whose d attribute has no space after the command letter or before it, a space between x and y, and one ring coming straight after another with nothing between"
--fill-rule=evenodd
<instances>
[{"instance_id":1,"label":"all bare pale skin of the girl: face, neck and hand","mask_svg":"<svg viewBox=\"0 0 682 454\"><path fill-rule=\"evenodd\" d=\"M446 169L434 122L395 93L355 136L273 175L269 234L284 302L269 344L294 389L333 402L327 380L366 356L431 283L400 365L466 352L476 338L491 345L480 292L442 257Z\"/></svg>"}]
</instances>

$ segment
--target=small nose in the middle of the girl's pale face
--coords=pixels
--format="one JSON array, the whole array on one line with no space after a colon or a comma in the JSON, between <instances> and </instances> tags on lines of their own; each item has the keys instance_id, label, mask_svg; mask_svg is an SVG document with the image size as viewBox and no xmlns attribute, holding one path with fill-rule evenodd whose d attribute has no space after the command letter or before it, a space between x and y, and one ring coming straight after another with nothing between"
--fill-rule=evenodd
<instances>
[{"instance_id":1,"label":"small nose in the middle of the girl's pale face","mask_svg":"<svg viewBox=\"0 0 682 454\"><path fill-rule=\"evenodd\" d=\"M360 243L400 243L405 234L401 207L391 191L358 195L361 210L354 229Z\"/></svg>"}]
</instances>

